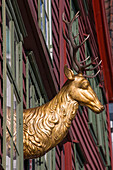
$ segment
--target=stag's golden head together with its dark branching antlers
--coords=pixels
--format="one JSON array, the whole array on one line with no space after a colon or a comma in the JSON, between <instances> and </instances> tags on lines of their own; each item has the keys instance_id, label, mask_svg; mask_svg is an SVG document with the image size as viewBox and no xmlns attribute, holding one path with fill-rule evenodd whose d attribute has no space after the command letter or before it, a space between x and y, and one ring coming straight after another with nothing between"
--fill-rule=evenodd
<instances>
[{"instance_id":1,"label":"stag's golden head together with its dark branching antlers","mask_svg":"<svg viewBox=\"0 0 113 170\"><path fill-rule=\"evenodd\" d=\"M78 18L79 12L74 16L74 18L68 22L64 19L64 13L63 13L63 21L66 23L67 28L68 28L68 37L67 38L64 34L63 31L63 36L66 40L66 42L69 44L69 49L70 49L70 56L74 61L74 69L78 73L77 75L74 75L73 71L69 69L67 66L64 67L64 73L66 77L70 80L70 96L78 101L78 103L82 106L88 106L91 110L93 110L96 113L100 113L103 109L104 106L100 103L98 100L98 97L96 96L95 92L90 86L90 83L86 78L94 78L96 77L100 70L94 75L86 75L84 72L86 71L92 71L95 68L97 68L102 61L100 61L95 67L93 68L88 68L90 65L92 65L92 62L87 65L82 65L89 59L90 56L88 56L85 60L82 62L78 62L76 58L76 52L77 50L86 42L86 40L89 38L89 35L85 38L85 40L77 45L75 43L75 38L79 35L77 34L76 36L72 36L72 24L76 18ZM98 57L95 59L97 60ZM93 60L94 61L94 60Z\"/></svg>"}]
</instances>

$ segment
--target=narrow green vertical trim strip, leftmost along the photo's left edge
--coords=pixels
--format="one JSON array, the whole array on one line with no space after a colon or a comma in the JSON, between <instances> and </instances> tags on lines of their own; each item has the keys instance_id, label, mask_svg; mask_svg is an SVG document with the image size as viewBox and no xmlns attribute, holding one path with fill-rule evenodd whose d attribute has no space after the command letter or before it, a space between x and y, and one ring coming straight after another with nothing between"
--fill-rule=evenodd
<instances>
[{"instance_id":1,"label":"narrow green vertical trim strip, leftmost along the photo's left edge","mask_svg":"<svg viewBox=\"0 0 113 170\"><path fill-rule=\"evenodd\" d=\"M7 75L6 75L6 7L5 0L2 0L2 30L3 30L3 157L2 165L6 169L6 93L7 93Z\"/></svg>"}]
</instances>

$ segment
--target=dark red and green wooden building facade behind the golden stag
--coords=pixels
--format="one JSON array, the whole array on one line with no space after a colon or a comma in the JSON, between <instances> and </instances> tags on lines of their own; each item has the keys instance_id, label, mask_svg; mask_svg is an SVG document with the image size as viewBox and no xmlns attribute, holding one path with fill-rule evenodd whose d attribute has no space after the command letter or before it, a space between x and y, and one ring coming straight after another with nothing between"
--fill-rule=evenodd
<instances>
[{"instance_id":1,"label":"dark red and green wooden building facade behind the golden stag","mask_svg":"<svg viewBox=\"0 0 113 170\"><path fill-rule=\"evenodd\" d=\"M103 0L2 0L0 3L0 166L18 170L113 169L108 103L112 100L111 50ZM90 56L87 64L102 59L100 74L89 79L105 110L96 115L86 107L78 113L66 138L41 158L23 158L23 108L40 106L52 99L66 81L64 65L73 68L70 49L63 38L62 21L74 17L72 33L80 43L78 60ZM101 29L103 27L104 29ZM108 56L108 58L106 57ZM109 74L110 71L110 74ZM95 71L88 72L92 74ZM16 122L13 124L14 113ZM7 115L11 128L7 127ZM17 143L13 142L16 127ZM10 135L10 154L6 135Z\"/></svg>"}]
</instances>

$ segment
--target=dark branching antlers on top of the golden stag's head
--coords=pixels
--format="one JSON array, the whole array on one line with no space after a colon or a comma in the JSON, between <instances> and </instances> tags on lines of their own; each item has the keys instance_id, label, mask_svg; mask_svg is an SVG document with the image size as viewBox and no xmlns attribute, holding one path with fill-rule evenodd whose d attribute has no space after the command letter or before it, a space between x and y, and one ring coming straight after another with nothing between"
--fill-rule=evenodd
<instances>
[{"instance_id":1,"label":"dark branching antlers on top of the golden stag's head","mask_svg":"<svg viewBox=\"0 0 113 170\"><path fill-rule=\"evenodd\" d=\"M79 61L77 61L77 58L76 58L76 52L77 52L77 50L86 42L86 40L89 38L89 36L90 35L87 35L87 37L82 41L82 43L81 44L79 44L79 45L77 45L76 43L75 43L75 38L79 35L79 33L76 35L76 36L72 36L72 24L73 24L73 22L74 22L74 20L75 19L77 19L79 17L79 11L76 13L76 15L74 16L74 18L69 22L69 21L66 21L65 19L64 19L64 13L63 13L63 15L62 15L62 19L63 19L63 22L67 25L67 28L68 28L68 36L69 36L69 38L67 38L66 37L66 35L64 34L64 31L62 30L62 32L63 32L63 37L64 37L64 39L66 40L66 42L69 44L69 47L70 47L70 55L71 55L71 58L73 58L73 60L74 60L74 63L75 63L75 67L74 67L74 69L75 69L75 71L77 72L77 73L84 73L84 71L92 71L92 70L94 70L95 68L97 68L101 63L102 63L102 60L95 66L95 67L93 67L93 68L88 68L90 65L92 65L93 64L93 62L95 61L95 60L97 60L97 58L96 59L94 59L91 63L89 63L89 64L87 64L87 65L81 65L81 64L83 64L85 61L87 61L88 59L89 59L89 57L90 56L88 56L85 60L83 60L83 61L81 61L81 62L79 62ZM94 77L96 77L98 74L99 74L99 72L100 72L100 69L99 69L99 71L96 73L96 74L92 74L92 75L86 75L86 74L83 74L83 76L84 77L87 77L87 78L94 78Z\"/></svg>"}]
</instances>

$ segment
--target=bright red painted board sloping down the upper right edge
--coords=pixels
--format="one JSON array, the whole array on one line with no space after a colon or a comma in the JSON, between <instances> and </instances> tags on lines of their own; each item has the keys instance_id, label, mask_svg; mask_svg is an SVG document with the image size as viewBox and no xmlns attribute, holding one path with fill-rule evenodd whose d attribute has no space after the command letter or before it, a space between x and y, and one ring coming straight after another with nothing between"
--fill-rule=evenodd
<instances>
[{"instance_id":1,"label":"bright red painted board sloping down the upper right edge","mask_svg":"<svg viewBox=\"0 0 113 170\"><path fill-rule=\"evenodd\" d=\"M100 57L103 60L103 73L109 101L113 102L113 56L111 53L105 6L103 0L92 0ZM103 29L104 28L104 29Z\"/></svg>"}]
</instances>

